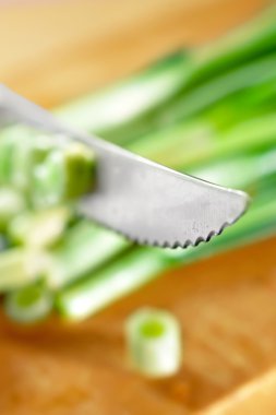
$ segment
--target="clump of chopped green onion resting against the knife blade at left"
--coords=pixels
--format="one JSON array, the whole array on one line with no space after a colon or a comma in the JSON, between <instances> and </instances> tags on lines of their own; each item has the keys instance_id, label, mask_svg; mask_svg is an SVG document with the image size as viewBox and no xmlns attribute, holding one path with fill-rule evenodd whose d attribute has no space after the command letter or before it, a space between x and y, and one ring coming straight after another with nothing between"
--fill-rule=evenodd
<instances>
[{"instance_id":1,"label":"clump of chopped green onion resting against the knife blade at left","mask_svg":"<svg viewBox=\"0 0 276 415\"><path fill-rule=\"evenodd\" d=\"M0 133L0 183L23 191L35 206L76 199L95 186L95 155L84 144L24 126Z\"/></svg>"}]
</instances>

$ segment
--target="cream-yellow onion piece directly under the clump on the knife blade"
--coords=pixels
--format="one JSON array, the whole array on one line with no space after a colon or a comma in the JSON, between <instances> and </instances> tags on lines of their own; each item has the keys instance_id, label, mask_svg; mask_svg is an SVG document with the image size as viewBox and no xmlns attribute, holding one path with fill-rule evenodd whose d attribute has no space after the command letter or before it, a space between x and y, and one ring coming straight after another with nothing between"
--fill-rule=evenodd
<instances>
[{"instance_id":1,"label":"cream-yellow onion piece directly under the clump on the knife blade","mask_svg":"<svg viewBox=\"0 0 276 415\"><path fill-rule=\"evenodd\" d=\"M11 221L8 234L15 244L48 247L60 239L69 220L70 210L64 206L25 212Z\"/></svg>"}]
</instances>

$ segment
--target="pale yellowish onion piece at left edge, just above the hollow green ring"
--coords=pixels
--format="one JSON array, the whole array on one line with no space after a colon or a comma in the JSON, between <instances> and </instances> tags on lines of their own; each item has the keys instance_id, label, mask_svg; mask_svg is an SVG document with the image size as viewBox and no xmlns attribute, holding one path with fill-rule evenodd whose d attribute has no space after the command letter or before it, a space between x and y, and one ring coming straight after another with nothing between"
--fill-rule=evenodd
<instances>
[{"instance_id":1,"label":"pale yellowish onion piece at left edge, just above the hollow green ring","mask_svg":"<svg viewBox=\"0 0 276 415\"><path fill-rule=\"evenodd\" d=\"M48 256L38 250L13 248L0 254L0 292L29 284L44 274Z\"/></svg>"}]
</instances>

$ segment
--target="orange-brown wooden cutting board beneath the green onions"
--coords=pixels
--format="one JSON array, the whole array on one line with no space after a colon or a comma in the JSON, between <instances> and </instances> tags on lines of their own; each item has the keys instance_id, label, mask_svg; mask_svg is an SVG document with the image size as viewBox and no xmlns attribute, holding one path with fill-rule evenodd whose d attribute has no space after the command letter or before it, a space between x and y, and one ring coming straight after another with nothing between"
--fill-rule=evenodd
<instances>
[{"instance_id":1,"label":"orange-brown wooden cutting board beneath the green onions","mask_svg":"<svg viewBox=\"0 0 276 415\"><path fill-rule=\"evenodd\" d=\"M0 7L0 79L52 107L225 33L263 0L13 2ZM167 273L77 325L0 313L1 415L275 415L276 238ZM123 321L151 305L183 325L164 381L131 372Z\"/></svg>"}]
</instances>

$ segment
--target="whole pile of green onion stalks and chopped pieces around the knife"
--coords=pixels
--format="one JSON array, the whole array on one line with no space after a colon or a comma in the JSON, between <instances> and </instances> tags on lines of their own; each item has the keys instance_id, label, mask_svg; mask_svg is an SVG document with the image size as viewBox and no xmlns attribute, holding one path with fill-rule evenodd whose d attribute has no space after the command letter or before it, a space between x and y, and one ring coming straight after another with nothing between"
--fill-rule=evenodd
<instances>
[{"instance_id":1,"label":"whole pile of green onion stalks and chopped pieces around the knife","mask_svg":"<svg viewBox=\"0 0 276 415\"><path fill-rule=\"evenodd\" d=\"M92 316L171 266L276 230L276 9L211 46L180 51L59 108L69 123L169 167L248 191L225 233L185 250L133 246L80 218L94 182L87 149L27 128L0 135L0 290L8 315Z\"/></svg>"}]
</instances>

